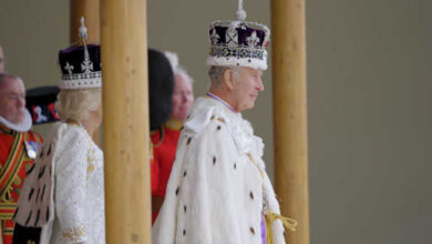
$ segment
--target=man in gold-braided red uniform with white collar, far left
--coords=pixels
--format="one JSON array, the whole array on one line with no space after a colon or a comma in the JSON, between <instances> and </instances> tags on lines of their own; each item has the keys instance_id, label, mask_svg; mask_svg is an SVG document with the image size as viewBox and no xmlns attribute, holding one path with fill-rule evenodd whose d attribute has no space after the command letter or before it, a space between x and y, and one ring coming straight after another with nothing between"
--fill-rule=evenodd
<instances>
[{"instance_id":1,"label":"man in gold-braided red uniform with white collar, far left","mask_svg":"<svg viewBox=\"0 0 432 244\"><path fill-rule=\"evenodd\" d=\"M0 73L0 223L3 244L11 244L11 221L23 180L32 170L42 138L30 131L32 120L25 109L25 89L13 74Z\"/></svg>"}]
</instances>

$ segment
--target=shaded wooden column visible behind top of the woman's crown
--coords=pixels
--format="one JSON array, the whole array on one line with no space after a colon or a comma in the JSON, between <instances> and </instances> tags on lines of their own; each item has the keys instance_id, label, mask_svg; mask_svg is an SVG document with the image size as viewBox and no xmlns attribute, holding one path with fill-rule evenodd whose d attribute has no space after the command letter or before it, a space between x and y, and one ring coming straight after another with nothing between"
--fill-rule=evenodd
<instances>
[{"instance_id":1,"label":"shaded wooden column visible behind top of the woman's crown","mask_svg":"<svg viewBox=\"0 0 432 244\"><path fill-rule=\"evenodd\" d=\"M89 43L99 43L99 0L71 0L71 43L79 41L80 19L84 17Z\"/></svg>"}]
</instances>

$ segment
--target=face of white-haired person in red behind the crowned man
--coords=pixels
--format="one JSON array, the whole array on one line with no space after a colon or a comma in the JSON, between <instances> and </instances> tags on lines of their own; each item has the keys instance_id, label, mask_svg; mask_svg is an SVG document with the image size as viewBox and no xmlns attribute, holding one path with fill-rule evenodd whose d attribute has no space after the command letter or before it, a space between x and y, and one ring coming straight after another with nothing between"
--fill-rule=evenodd
<instances>
[{"instance_id":1,"label":"face of white-haired person in red behind the crowned man","mask_svg":"<svg viewBox=\"0 0 432 244\"><path fill-rule=\"evenodd\" d=\"M173 111L171 118L175 120L185 120L194 103L194 93L191 81L182 74L174 78L173 91Z\"/></svg>"}]
</instances>

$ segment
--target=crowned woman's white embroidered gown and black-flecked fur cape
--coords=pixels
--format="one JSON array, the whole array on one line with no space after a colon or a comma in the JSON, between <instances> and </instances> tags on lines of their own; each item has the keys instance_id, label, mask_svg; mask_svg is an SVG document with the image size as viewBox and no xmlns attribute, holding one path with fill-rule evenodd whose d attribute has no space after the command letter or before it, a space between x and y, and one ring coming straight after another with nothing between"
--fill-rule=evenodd
<instances>
[{"instance_id":1,"label":"crowned woman's white embroidered gown and black-flecked fur cape","mask_svg":"<svg viewBox=\"0 0 432 244\"><path fill-rule=\"evenodd\" d=\"M105 243L103 153L85 129L55 123L24 181L13 221L41 244Z\"/></svg>"}]
</instances>

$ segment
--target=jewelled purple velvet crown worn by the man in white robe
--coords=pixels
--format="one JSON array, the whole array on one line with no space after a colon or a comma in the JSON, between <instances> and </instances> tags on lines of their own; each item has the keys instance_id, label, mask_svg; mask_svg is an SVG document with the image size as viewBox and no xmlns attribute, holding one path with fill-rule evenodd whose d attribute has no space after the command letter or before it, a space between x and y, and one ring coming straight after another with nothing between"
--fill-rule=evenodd
<instances>
[{"instance_id":1,"label":"jewelled purple velvet crown worn by the man in white robe","mask_svg":"<svg viewBox=\"0 0 432 244\"><path fill-rule=\"evenodd\" d=\"M267 69L270 30L261 23L248 22L243 0L238 1L236 20L217 20L209 27L208 65Z\"/></svg>"}]
</instances>

